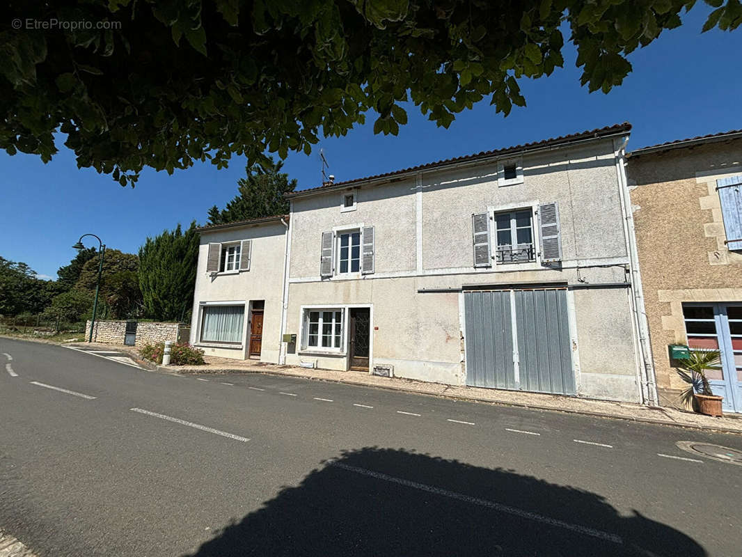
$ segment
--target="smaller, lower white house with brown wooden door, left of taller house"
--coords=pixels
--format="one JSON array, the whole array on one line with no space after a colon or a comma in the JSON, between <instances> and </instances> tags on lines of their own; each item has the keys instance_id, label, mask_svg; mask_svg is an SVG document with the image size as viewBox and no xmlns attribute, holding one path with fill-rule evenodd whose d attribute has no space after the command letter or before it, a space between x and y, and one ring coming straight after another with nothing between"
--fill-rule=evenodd
<instances>
[{"instance_id":1,"label":"smaller, lower white house with brown wooden door, left of taller house","mask_svg":"<svg viewBox=\"0 0 742 557\"><path fill-rule=\"evenodd\" d=\"M289 217L200 228L191 344L207 356L278 362Z\"/></svg>"}]
</instances>

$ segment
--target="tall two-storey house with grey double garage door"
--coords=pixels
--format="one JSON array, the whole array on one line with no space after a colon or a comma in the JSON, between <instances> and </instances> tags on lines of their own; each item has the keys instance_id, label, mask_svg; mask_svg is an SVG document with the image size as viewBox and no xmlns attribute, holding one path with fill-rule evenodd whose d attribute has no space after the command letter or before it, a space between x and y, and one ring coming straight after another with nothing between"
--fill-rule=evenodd
<instances>
[{"instance_id":1,"label":"tall two-storey house with grey double garage door","mask_svg":"<svg viewBox=\"0 0 742 557\"><path fill-rule=\"evenodd\" d=\"M290 342L281 361L654 404L626 186L630 130L625 123L287 195L281 333ZM252 229L256 247L264 229ZM196 307L206 288L221 304L248 296L241 276L203 272L207 244L248 238L247 230L202 231ZM271 263L258 271L256 253L245 273L276 299L281 234L276 225ZM263 272L272 274L254 281ZM194 331L202 321L194 310Z\"/></svg>"}]
</instances>

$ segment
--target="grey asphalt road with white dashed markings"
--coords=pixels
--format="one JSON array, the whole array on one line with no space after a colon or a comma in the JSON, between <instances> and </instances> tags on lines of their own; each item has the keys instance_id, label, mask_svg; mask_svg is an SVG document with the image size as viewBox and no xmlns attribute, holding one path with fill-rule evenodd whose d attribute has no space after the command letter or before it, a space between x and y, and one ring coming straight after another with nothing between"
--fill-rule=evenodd
<instances>
[{"instance_id":1,"label":"grey asphalt road with white dashed markings","mask_svg":"<svg viewBox=\"0 0 742 557\"><path fill-rule=\"evenodd\" d=\"M740 436L4 338L0 363L0 530L40 556L742 554L742 466L675 445Z\"/></svg>"}]
</instances>

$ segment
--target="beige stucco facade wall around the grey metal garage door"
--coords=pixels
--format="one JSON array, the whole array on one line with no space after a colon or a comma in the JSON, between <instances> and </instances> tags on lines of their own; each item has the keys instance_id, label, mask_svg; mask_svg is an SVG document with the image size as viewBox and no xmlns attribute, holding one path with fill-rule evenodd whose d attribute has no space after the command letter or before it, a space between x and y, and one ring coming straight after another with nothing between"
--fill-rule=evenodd
<instances>
[{"instance_id":1,"label":"beige stucco facade wall around the grey metal garage door","mask_svg":"<svg viewBox=\"0 0 742 557\"><path fill-rule=\"evenodd\" d=\"M423 174L421 237L416 177L356 189L358 209L341 212L341 192L292 201L292 247L286 333L301 342L301 307L372 307L371 365L393 364L398 377L464 384L461 289L470 284L626 281L628 264L613 140L525 157L524 182L498 187L496 162ZM474 269L471 215L488 207L558 201L562 268L540 264ZM320 280L321 232L349 224L375 227L375 273ZM534 232L536 223L534 222ZM537 235L537 232L536 232ZM422 245L422 269L416 247ZM597 267L611 265L613 267ZM580 270L577 270L577 267ZM637 358L631 290L570 293L578 394L637 402ZM287 354L286 363L315 361L347 369L347 355Z\"/></svg>"}]
</instances>

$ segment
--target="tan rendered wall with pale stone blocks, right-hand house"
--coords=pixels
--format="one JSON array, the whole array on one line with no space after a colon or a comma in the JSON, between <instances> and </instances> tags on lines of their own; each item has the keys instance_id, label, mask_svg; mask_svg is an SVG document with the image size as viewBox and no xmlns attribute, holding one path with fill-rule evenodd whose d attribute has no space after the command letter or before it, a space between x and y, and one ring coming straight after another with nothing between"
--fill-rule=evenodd
<instances>
[{"instance_id":1,"label":"tan rendered wall with pale stone blocks, right-hand house","mask_svg":"<svg viewBox=\"0 0 742 557\"><path fill-rule=\"evenodd\" d=\"M716 180L742 174L742 140L629 157L634 209L660 403L685 383L668 345L686 342L683 302L742 300L742 255L723 244Z\"/></svg>"}]
</instances>

